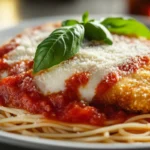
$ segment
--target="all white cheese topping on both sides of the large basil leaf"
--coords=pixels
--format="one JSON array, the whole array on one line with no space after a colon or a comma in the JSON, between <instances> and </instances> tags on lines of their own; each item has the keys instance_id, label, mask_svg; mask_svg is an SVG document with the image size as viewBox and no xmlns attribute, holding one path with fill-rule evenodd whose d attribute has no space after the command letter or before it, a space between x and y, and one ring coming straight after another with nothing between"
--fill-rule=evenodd
<instances>
[{"instance_id":1,"label":"all white cheese topping on both sides of the large basil leaf","mask_svg":"<svg viewBox=\"0 0 150 150\"><path fill-rule=\"evenodd\" d=\"M42 29L26 31L21 37L15 39L19 46L4 55L4 62L11 65L22 60L32 61L38 44L54 29L54 26L49 25L43 26ZM146 40L119 35L113 35L113 45L111 46L85 42L72 59L35 75L34 81L41 92L48 95L64 91L65 81L74 74L89 72L88 83L84 87L80 86L78 90L81 99L90 102L95 95L96 87L106 75L118 71L118 66L127 64L131 58L149 55L149 46L150 44ZM24 63L20 67L25 67ZM6 71L1 73L1 78L5 76L7 76Z\"/></svg>"}]
</instances>

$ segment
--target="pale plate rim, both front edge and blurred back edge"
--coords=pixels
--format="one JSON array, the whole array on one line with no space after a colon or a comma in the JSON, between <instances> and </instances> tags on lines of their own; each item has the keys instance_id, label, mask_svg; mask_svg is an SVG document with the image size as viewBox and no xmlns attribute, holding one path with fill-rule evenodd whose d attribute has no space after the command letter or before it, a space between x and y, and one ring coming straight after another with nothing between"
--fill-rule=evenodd
<instances>
[{"instance_id":1,"label":"pale plate rim, both front edge and blurred back edge","mask_svg":"<svg viewBox=\"0 0 150 150\"><path fill-rule=\"evenodd\" d=\"M102 18L106 16L110 16L110 14L101 14L101 15L91 15L95 18ZM124 14L112 14L111 16L129 16ZM135 18L149 18L149 17L143 17L143 16L137 16L137 15L130 15L131 17ZM47 17L40 17L35 19L27 19L24 21L21 21L18 25L6 28L0 30L0 36L8 34L11 31L15 30L15 34L17 34L18 29L23 30L27 27L32 27L35 25L40 25L41 23L46 22L55 22L59 20L64 20L67 18L79 18L79 15L61 15L61 16L47 16ZM150 19L150 18L149 18ZM19 31L20 32L20 31ZM5 41L3 41L5 42ZM3 43L0 42L0 43ZM64 148L64 149L95 149L95 150L106 150L106 149L143 149L143 148L150 148L150 143L110 143L110 144L104 144L104 143L81 143L81 142L71 142L71 141L64 141L64 140L53 140L53 139L43 139L39 137L29 137L25 135L18 135L15 133L9 133L5 131L0 131L0 142L11 144L11 145L17 145L17 146L23 146L28 148L41 148L41 146L45 148ZM28 145L27 145L28 144ZM113 147L112 147L113 145Z\"/></svg>"}]
</instances>

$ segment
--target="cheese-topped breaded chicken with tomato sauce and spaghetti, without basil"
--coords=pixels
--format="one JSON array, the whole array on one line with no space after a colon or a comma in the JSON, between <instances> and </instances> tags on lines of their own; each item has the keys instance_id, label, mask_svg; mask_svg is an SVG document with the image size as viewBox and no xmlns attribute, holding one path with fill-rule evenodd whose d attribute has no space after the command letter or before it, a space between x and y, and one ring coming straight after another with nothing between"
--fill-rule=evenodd
<instances>
[{"instance_id":1,"label":"cheese-topped breaded chicken with tomato sauce and spaghetti, without basil","mask_svg":"<svg viewBox=\"0 0 150 150\"><path fill-rule=\"evenodd\" d=\"M110 45L85 39L73 56L34 73L38 45L60 26L30 28L0 47L0 129L80 142L150 142L150 40L118 33Z\"/></svg>"}]
</instances>

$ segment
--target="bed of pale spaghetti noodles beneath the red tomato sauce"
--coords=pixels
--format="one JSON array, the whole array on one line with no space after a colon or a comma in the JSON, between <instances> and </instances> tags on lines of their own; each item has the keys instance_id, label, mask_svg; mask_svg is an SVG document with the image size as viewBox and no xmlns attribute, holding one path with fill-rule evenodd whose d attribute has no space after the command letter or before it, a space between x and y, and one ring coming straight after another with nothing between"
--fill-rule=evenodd
<instances>
[{"instance_id":1,"label":"bed of pale spaghetti noodles beneath the red tomato sauce","mask_svg":"<svg viewBox=\"0 0 150 150\"><path fill-rule=\"evenodd\" d=\"M131 117L121 124L91 126L54 121L42 115L0 106L0 129L27 136L92 143L149 142L150 114Z\"/></svg>"}]
</instances>

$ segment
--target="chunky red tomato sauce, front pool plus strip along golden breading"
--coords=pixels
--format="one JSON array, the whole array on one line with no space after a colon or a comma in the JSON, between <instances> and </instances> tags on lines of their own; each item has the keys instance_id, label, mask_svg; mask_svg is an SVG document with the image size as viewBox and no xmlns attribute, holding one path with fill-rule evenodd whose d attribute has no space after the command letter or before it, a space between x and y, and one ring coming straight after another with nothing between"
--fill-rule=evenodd
<instances>
[{"instance_id":1,"label":"chunky red tomato sauce, front pool plus strip along golden breading","mask_svg":"<svg viewBox=\"0 0 150 150\"><path fill-rule=\"evenodd\" d=\"M109 73L97 86L98 98L100 99L102 94L117 83L119 78L125 75L124 72L126 75L133 73L148 62L148 57L138 57L137 61L133 60L126 66L118 66L117 72ZM117 120L116 123L121 123L134 115L114 105L96 102L89 104L81 100L79 87L85 86L89 78L88 72L74 74L65 81L65 91L44 96L36 87L31 71L12 75L0 82L0 104L24 109L33 114L42 114L54 120L99 126L105 125L106 121L110 120Z\"/></svg>"}]
</instances>

